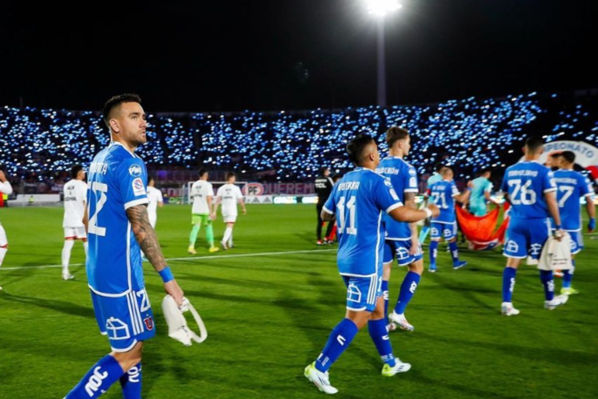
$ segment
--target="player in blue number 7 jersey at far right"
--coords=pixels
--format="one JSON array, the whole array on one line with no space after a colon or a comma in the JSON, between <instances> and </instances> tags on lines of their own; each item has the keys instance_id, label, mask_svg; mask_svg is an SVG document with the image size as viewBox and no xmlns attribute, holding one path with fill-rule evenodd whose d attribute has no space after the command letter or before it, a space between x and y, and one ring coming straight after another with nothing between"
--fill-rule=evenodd
<instances>
[{"instance_id":1,"label":"player in blue number 7 jersey at far right","mask_svg":"<svg viewBox=\"0 0 598 399\"><path fill-rule=\"evenodd\" d=\"M596 229L596 207L592 199L594 189L588 178L579 172L573 170L575 165L575 153L572 151L563 151L559 157L560 169L554 172L554 181L557 184L557 202L559 203L559 213L563 223L563 230L569 233L571 237L571 257L573 269L563 270L563 287L560 293L565 295L578 294L571 285L573 272L575 271L575 255L579 254L584 248L584 242L581 234L581 202L585 197L585 208L588 212L590 221L588 222L588 232Z\"/></svg>"}]
</instances>

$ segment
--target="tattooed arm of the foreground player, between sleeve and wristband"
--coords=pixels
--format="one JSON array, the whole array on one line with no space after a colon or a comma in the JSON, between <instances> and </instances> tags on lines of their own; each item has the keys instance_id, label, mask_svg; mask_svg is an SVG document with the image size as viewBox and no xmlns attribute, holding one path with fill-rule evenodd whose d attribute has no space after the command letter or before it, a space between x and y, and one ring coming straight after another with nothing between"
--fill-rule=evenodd
<instances>
[{"instance_id":1,"label":"tattooed arm of the foreground player, between sleeve and wristband","mask_svg":"<svg viewBox=\"0 0 598 399\"><path fill-rule=\"evenodd\" d=\"M149 224L148 209L146 205L135 205L127 208L127 218L131 223L131 229L135 239L139 243L145 257L158 272L167 266L162 249L158 243L155 230Z\"/></svg>"}]
</instances>

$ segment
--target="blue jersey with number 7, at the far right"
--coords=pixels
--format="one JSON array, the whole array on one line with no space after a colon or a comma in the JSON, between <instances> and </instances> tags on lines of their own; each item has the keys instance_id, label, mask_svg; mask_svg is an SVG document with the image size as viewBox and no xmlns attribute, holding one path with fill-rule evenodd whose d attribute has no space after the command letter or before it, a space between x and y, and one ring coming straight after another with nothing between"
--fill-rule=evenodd
<instances>
[{"instance_id":1,"label":"blue jersey with number 7, at the far right","mask_svg":"<svg viewBox=\"0 0 598 399\"><path fill-rule=\"evenodd\" d=\"M576 232L581 230L581 197L590 201L594 189L590 181L575 170L559 169L554 172L557 183L557 200L563 229Z\"/></svg>"}]
</instances>

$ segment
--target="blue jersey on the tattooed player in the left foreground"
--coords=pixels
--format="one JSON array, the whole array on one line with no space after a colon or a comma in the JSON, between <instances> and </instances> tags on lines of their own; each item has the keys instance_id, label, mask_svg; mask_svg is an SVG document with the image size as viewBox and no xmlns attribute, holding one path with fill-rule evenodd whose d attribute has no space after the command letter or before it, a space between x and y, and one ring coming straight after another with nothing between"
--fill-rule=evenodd
<instances>
[{"instance_id":1,"label":"blue jersey on the tattooed player in the left foreground","mask_svg":"<svg viewBox=\"0 0 598 399\"><path fill-rule=\"evenodd\" d=\"M87 187L89 287L104 296L140 290L144 287L141 254L125 211L148 203L144 162L112 142L94 157Z\"/></svg>"}]
</instances>

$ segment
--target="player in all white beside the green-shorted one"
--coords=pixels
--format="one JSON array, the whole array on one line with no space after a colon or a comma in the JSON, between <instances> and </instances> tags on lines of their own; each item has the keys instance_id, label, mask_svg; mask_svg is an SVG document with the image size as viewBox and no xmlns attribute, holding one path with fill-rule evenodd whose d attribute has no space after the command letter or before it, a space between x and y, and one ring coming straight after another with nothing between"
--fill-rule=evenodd
<instances>
[{"instance_id":1,"label":"player in all white beside the green-shorted one","mask_svg":"<svg viewBox=\"0 0 598 399\"><path fill-rule=\"evenodd\" d=\"M218 205L222 202L222 219L226 224L224 229L224 236L220 242L222 248L227 250L233 248L233 227L237 221L237 203L241 206L243 215L247 214L247 208L245 208L245 202L243 201L243 194L239 187L234 185L237 176L229 172L226 174L226 184L221 185L216 191L216 202L213 206L212 217L216 217L216 211L218 211Z\"/></svg>"}]
</instances>

